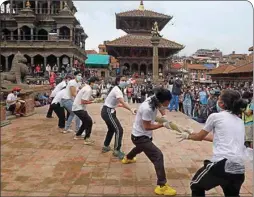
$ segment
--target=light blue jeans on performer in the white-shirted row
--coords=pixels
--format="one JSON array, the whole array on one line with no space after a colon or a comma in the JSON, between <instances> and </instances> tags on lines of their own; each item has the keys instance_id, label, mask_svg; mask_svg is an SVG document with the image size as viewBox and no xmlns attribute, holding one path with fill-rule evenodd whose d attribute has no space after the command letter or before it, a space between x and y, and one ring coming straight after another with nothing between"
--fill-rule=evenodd
<instances>
[{"instance_id":1,"label":"light blue jeans on performer in the white-shirted row","mask_svg":"<svg viewBox=\"0 0 254 197\"><path fill-rule=\"evenodd\" d=\"M68 130L71 127L71 122L75 116L75 114L72 112L72 105L73 105L73 101L71 99L61 100L61 106L63 106L70 113L68 120L65 124L65 128L64 128L65 130ZM75 122L76 122L76 131L78 131L80 126L80 119L76 117Z\"/></svg>"}]
</instances>

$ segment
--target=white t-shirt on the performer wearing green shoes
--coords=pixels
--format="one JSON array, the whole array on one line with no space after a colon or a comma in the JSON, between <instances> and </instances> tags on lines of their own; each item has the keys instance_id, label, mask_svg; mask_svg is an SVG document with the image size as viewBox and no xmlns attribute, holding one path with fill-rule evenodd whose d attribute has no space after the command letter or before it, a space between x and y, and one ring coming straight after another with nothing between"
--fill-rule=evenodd
<instances>
[{"instance_id":1,"label":"white t-shirt on the performer wearing green shoes","mask_svg":"<svg viewBox=\"0 0 254 197\"><path fill-rule=\"evenodd\" d=\"M119 101L117 100L119 98L123 98L123 93L118 86L115 86L108 94L104 102L104 106L107 106L109 108L116 108L119 104Z\"/></svg>"}]
</instances>

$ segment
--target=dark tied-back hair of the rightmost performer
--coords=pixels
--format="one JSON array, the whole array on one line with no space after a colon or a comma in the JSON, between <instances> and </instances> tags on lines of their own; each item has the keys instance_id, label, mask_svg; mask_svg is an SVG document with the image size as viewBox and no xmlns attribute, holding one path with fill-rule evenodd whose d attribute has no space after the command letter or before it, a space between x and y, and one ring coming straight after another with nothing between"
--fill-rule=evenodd
<instances>
[{"instance_id":1,"label":"dark tied-back hair of the rightmost performer","mask_svg":"<svg viewBox=\"0 0 254 197\"><path fill-rule=\"evenodd\" d=\"M223 90L220 98L224 103L224 110L228 110L235 115L241 114L248 104L235 90Z\"/></svg>"}]
</instances>

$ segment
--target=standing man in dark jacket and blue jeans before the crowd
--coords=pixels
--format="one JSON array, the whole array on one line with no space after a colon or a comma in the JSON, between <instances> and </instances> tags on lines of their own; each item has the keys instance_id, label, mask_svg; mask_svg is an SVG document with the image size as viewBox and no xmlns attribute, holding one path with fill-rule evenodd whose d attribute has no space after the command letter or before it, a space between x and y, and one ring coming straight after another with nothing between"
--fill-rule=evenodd
<instances>
[{"instance_id":1,"label":"standing man in dark jacket and blue jeans before the crowd","mask_svg":"<svg viewBox=\"0 0 254 197\"><path fill-rule=\"evenodd\" d=\"M178 76L176 76L176 79L174 81L173 88L172 88L172 99L170 101L170 107L169 107L170 111L172 110L178 111L179 95L181 94L182 85L183 83L181 79L179 79Z\"/></svg>"}]
</instances>

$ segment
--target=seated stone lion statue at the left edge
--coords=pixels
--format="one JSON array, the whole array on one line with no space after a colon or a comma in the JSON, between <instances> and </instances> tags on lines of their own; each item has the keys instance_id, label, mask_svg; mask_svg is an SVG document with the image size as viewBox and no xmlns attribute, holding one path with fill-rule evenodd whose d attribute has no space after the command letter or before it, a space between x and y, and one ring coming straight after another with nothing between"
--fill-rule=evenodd
<instances>
[{"instance_id":1,"label":"seated stone lion statue at the left edge","mask_svg":"<svg viewBox=\"0 0 254 197\"><path fill-rule=\"evenodd\" d=\"M26 81L26 76L29 74L29 69L25 64L27 59L18 52L13 60L11 70L9 72L1 73L1 81L9 81L16 84L22 84L22 79Z\"/></svg>"}]
</instances>

